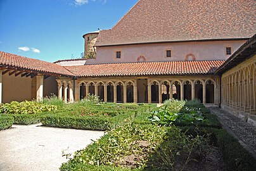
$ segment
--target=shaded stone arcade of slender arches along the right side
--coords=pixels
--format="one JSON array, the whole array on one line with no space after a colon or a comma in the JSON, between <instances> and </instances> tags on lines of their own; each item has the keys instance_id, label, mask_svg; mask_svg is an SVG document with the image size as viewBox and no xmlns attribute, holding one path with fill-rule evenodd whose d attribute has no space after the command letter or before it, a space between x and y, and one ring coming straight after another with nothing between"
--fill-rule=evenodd
<instances>
[{"instance_id":1,"label":"shaded stone arcade of slender arches along the right side","mask_svg":"<svg viewBox=\"0 0 256 171\"><path fill-rule=\"evenodd\" d=\"M222 107L248 122L255 122L256 63L253 58L223 73L221 79Z\"/></svg>"}]
</instances>

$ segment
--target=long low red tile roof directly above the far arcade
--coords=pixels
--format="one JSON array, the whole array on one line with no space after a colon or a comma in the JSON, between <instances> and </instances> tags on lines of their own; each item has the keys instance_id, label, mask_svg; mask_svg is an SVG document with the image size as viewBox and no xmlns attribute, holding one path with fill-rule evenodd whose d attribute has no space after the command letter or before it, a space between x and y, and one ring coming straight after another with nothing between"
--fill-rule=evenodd
<instances>
[{"instance_id":1,"label":"long low red tile roof directly above the far arcade","mask_svg":"<svg viewBox=\"0 0 256 171\"><path fill-rule=\"evenodd\" d=\"M158 61L64 66L77 77L212 74L224 61Z\"/></svg>"}]
</instances>

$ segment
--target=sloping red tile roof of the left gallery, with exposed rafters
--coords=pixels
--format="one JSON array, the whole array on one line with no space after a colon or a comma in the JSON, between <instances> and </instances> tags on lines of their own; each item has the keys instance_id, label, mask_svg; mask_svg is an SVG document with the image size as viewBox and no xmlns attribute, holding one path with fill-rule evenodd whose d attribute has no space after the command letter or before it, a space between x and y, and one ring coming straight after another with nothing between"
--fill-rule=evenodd
<instances>
[{"instance_id":1,"label":"sloping red tile roof of the left gallery, with exposed rafters","mask_svg":"<svg viewBox=\"0 0 256 171\"><path fill-rule=\"evenodd\" d=\"M15 68L33 70L37 72L55 73L60 75L74 76L63 66L46 61L35 60L16 54L0 51L0 66L13 66Z\"/></svg>"}]
</instances>

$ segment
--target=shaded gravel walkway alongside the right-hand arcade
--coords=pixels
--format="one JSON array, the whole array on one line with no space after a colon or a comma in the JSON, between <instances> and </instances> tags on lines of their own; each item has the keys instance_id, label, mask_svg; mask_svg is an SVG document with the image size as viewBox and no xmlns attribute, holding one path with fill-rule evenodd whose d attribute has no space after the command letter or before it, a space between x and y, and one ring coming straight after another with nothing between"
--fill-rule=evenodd
<instances>
[{"instance_id":1,"label":"shaded gravel walkway alongside the right-hand arcade","mask_svg":"<svg viewBox=\"0 0 256 171\"><path fill-rule=\"evenodd\" d=\"M240 143L256 158L256 127L220 108L210 107L209 109L217 115L224 128L231 131L231 134L239 139Z\"/></svg>"}]
</instances>

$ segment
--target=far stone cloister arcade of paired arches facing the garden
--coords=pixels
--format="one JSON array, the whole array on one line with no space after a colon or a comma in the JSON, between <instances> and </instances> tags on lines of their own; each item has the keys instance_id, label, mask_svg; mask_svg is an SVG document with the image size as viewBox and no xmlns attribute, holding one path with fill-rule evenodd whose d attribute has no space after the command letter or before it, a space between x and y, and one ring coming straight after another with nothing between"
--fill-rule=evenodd
<instances>
[{"instance_id":1,"label":"far stone cloister arcade of paired arches facing the garden","mask_svg":"<svg viewBox=\"0 0 256 171\"><path fill-rule=\"evenodd\" d=\"M87 98L88 94L95 94L101 101L114 103L163 103L174 98L200 99L202 103L218 104L218 78L57 79L58 98L74 102Z\"/></svg>"}]
</instances>

